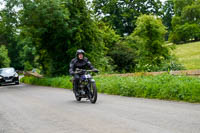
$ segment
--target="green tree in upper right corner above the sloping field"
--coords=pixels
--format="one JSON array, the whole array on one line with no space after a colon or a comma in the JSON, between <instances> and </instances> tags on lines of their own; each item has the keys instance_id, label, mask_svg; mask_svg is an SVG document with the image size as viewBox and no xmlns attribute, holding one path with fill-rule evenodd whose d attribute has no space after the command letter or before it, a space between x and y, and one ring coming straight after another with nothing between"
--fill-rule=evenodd
<instances>
[{"instance_id":1,"label":"green tree in upper right corner above the sloping field","mask_svg":"<svg viewBox=\"0 0 200 133\"><path fill-rule=\"evenodd\" d=\"M185 43L200 40L200 2L199 0L175 0L175 16L172 19L173 31L170 41Z\"/></svg>"}]
</instances>

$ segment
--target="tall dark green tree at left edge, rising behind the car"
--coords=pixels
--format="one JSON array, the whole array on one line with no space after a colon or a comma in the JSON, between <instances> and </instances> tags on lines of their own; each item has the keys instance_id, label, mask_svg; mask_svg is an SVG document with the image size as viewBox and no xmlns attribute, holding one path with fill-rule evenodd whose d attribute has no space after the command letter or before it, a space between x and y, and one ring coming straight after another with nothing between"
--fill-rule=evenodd
<instances>
[{"instance_id":1,"label":"tall dark green tree at left edge, rising behind the car","mask_svg":"<svg viewBox=\"0 0 200 133\"><path fill-rule=\"evenodd\" d=\"M10 65L16 69L23 69L20 62L19 51L17 46L17 26L18 15L16 7L17 0L4 0L5 8L0 11L0 44L6 45L8 56L11 60Z\"/></svg>"}]
</instances>

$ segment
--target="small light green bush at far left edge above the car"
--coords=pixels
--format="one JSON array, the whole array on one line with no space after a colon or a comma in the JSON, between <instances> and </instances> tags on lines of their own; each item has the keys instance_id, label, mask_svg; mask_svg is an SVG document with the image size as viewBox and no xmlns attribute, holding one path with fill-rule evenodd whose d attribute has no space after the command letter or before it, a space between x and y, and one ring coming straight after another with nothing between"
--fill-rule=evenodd
<instances>
[{"instance_id":1,"label":"small light green bush at far left edge above the car","mask_svg":"<svg viewBox=\"0 0 200 133\"><path fill-rule=\"evenodd\" d=\"M0 45L0 68L9 66L10 58L8 57L8 50L4 45Z\"/></svg>"}]
</instances>

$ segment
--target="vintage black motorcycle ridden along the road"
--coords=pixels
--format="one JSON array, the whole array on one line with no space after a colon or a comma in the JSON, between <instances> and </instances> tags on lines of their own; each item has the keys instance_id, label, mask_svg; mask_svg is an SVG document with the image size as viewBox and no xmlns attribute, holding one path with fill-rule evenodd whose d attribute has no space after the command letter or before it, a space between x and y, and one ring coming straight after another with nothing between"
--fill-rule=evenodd
<instances>
[{"instance_id":1,"label":"vintage black motorcycle ridden along the road","mask_svg":"<svg viewBox=\"0 0 200 133\"><path fill-rule=\"evenodd\" d=\"M98 70L84 70L76 69L75 73L80 75L78 83L78 96L75 95L77 101L81 101L82 98L87 98L91 103L96 103L97 101L97 87L95 80L93 79L91 73L98 72ZM73 82L74 86L74 82ZM75 90L74 90L75 94Z\"/></svg>"}]
</instances>

